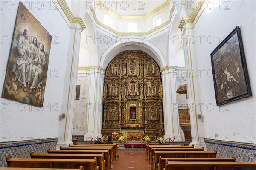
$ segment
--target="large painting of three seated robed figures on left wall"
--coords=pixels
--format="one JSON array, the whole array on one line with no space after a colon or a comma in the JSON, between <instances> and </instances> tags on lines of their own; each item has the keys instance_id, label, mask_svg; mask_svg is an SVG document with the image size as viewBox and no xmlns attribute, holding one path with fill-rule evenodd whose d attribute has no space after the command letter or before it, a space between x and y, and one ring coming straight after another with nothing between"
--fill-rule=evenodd
<instances>
[{"instance_id":1,"label":"large painting of three seated robed figures on left wall","mask_svg":"<svg viewBox=\"0 0 256 170\"><path fill-rule=\"evenodd\" d=\"M43 107L51 41L49 32L20 2L3 98Z\"/></svg>"}]
</instances>

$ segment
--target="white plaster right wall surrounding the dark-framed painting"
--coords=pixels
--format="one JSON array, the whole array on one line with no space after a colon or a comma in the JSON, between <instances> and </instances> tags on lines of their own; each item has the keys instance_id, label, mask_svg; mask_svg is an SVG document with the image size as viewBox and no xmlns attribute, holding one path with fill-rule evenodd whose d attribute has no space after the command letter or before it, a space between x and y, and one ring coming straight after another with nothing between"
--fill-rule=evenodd
<instances>
[{"instance_id":1,"label":"white plaster right wall surrounding the dark-framed painting","mask_svg":"<svg viewBox=\"0 0 256 170\"><path fill-rule=\"evenodd\" d=\"M195 36L204 35L207 37L210 35L214 37L214 41L211 43L207 43L204 37L202 43L198 38L197 43L192 44L192 48L196 50L197 61L194 62L197 62L197 69L204 69L202 76L199 77L199 87L197 88L201 92L201 103L205 104L202 107L205 138L256 143L255 9L256 1L236 0L228 1L226 4L222 2L222 6L216 7L211 12L204 10L194 28ZM211 72L212 69L210 53L219 45L220 39L218 37L221 36L223 40L224 35L228 35L236 26L240 26L241 29L253 96L218 107L215 102L213 78L206 76L207 70ZM210 41L211 39L208 40L208 42ZM207 104L214 106L214 108L211 109L209 106L207 109Z\"/></svg>"}]
</instances>

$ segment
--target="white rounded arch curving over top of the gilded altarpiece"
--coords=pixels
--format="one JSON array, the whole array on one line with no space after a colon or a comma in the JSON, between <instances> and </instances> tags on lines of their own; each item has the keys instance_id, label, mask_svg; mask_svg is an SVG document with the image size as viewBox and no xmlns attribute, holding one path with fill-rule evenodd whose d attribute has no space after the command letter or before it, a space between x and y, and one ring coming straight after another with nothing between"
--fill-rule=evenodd
<instances>
[{"instance_id":1,"label":"white rounded arch curving over top of the gilded altarpiece","mask_svg":"<svg viewBox=\"0 0 256 170\"><path fill-rule=\"evenodd\" d=\"M102 54L99 65L103 68L107 68L108 63L118 55L120 52L125 50L140 50L147 53L151 56L160 68L166 66L166 59L163 56L163 53L158 49L154 44L149 43L145 40L129 40L127 43L123 43L122 41L117 41L112 44L105 52Z\"/></svg>"}]
</instances>

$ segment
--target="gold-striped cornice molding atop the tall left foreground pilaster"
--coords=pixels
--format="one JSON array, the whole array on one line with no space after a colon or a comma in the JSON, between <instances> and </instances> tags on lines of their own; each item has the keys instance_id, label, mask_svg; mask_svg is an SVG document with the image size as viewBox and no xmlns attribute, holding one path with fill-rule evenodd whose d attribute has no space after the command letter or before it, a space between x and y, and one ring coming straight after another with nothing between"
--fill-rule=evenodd
<instances>
[{"instance_id":1,"label":"gold-striped cornice molding atop the tall left foreground pilaster","mask_svg":"<svg viewBox=\"0 0 256 170\"><path fill-rule=\"evenodd\" d=\"M82 31L86 29L84 20L81 17L74 17L65 0L57 0L57 2L70 23L78 23Z\"/></svg>"}]
</instances>

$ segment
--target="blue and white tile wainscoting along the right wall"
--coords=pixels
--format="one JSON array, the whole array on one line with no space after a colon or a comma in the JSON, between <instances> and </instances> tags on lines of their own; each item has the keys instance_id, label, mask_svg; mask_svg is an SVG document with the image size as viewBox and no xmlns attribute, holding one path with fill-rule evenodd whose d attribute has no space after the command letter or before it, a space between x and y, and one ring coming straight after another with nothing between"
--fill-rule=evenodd
<instances>
[{"instance_id":1,"label":"blue and white tile wainscoting along the right wall","mask_svg":"<svg viewBox=\"0 0 256 170\"><path fill-rule=\"evenodd\" d=\"M236 162L256 162L256 144L204 139L208 151L217 150L217 158L236 157Z\"/></svg>"}]
</instances>

